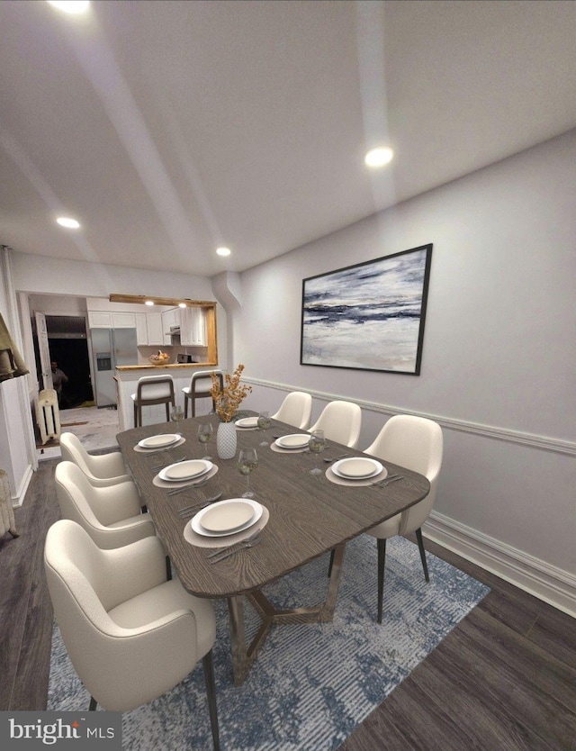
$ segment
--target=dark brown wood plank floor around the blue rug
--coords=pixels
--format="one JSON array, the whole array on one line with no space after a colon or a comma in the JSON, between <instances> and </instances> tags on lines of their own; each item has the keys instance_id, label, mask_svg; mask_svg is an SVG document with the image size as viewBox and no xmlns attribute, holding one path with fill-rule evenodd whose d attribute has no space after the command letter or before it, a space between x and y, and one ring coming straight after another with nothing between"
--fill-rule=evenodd
<instances>
[{"instance_id":1,"label":"dark brown wood plank floor around the blue rug","mask_svg":"<svg viewBox=\"0 0 576 751\"><path fill-rule=\"evenodd\" d=\"M52 612L42 546L58 519L55 466L40 463L15 511L21 536L0 541L0 710L46 708ZM576 620L433 543L427 548L491 593L340 751L576 751Z\"/></svg>"}]
</instances>

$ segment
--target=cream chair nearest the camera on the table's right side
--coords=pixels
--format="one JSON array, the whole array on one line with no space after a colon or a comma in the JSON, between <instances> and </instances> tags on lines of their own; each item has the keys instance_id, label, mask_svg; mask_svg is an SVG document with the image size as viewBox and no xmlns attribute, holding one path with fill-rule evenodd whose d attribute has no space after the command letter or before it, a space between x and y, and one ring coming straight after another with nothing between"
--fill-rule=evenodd
<instances>
[{"instance_id":1,"label":"cream chair nearest the camera on the table's right side","mask_svg":"<svg viewBox=\"0 0 576 751\"><path fill-rule=\"evenodd\" d=\"M424 576L426 581L429 581L421 528L436 500L443 444L442 429L437 422L415 415L399 414L391 417L384 424L374 443L365 448L365 454L419 472L420 475L425 475L430 483L430 492L426 498L366 533L377 539L378 546L378 623L382 623L384 564L388 538L408 535L410 532L416 533Z\"/></svg>"}]
</instances>

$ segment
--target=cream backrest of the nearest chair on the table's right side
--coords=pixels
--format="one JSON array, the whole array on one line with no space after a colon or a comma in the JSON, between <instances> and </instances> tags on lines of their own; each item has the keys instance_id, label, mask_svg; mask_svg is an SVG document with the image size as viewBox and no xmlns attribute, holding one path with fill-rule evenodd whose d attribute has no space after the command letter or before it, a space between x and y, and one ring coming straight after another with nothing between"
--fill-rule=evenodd
<instances>
[{"instance_id":1,"label":"cream backrest of the nearest chair on the table's right side","mask_svg":"<svg viewBox=\"0 0 576 751\"><path fill-rule=\"evenodd\" d=\"M422 501L404 511L401 535L419 529L428 519L437 495L444 439L437 422L416 415L398 414L387 421L365 454L405 466L428 477L430 492Z\"/></svg>"}]
</instances>

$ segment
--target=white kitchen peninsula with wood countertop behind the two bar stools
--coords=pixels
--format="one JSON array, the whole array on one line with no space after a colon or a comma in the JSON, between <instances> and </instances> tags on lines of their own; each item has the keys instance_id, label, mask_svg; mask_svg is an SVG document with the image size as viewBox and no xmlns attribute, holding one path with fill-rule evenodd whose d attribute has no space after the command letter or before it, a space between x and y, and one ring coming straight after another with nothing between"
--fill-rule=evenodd
<instances>
[{"instance_id":1,"label":"white kitchen peninsula with wood countertop behind the two bar stools","mask_svg":"<svg viewBox=\"0 0 576 751\"><path fill-rule=\"evenodd\" d=\"M214 370L220 366L214 362L204 363L176 363L174 365L124 365L116 367L114 379L116 381L118 424L119 430L130 430L134 427L134 403L131 394L136 394L139 378L143 376L170 375L174 379L176 405L184 409L184 386L190 385L190 379L197 370ZM205 410L204 403L205 402ZM199 400L198 413L208 413L211 410L210 398ZM166 407L164 404L153 404L142 410L142 425L154 425L166 422Z\"/></svg>"}]
</instances>

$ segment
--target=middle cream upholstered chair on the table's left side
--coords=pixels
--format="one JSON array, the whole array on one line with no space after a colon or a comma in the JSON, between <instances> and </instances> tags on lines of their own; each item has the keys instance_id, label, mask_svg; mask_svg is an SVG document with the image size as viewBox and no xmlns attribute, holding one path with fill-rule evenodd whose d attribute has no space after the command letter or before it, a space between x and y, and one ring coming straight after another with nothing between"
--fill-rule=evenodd
<instances>
[{"instance_id":1,"label":"middle cream upholstered chair on the table's left side","mask_svg":"<svg viewBox=\"0 0 576 751\"><path fill-rule=\"evenodd\" d=\"M121 547L156 534L150 515L140 513L140 497L131 480L94 487L79 466L66 461L59 462L54 479L62 518L76 521L98 547Z\"/></svg>"}]
</instances>

